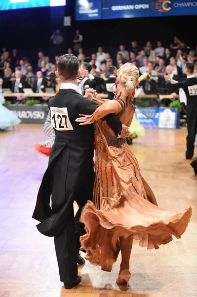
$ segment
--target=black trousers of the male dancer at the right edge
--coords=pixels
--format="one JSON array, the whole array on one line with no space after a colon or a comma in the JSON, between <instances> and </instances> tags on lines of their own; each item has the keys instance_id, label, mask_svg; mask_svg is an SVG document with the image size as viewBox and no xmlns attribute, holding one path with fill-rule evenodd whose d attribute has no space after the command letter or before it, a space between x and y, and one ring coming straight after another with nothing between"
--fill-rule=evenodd
<instances>
[{"instance_id":1,"label":"black trousers of the male dancer at the right edge","mask_svg":"<svg viewBox=\"0 0 197 297\"><path fill-rule=\"evenodd\" d=\"M187 151L186 157L192 158L194 155L194 143L197 134L197 106L189 108L187 106L187 124L188 124L188 136L187 136Z\"/></svg>"}]
</instances>

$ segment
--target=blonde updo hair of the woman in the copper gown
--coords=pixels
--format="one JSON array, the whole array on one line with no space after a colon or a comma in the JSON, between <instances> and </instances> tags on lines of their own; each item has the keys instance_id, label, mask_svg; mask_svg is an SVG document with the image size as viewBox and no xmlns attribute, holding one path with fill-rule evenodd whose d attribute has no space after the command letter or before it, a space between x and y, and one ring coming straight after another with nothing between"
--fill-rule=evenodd
<instances>
[{"instance_id":1,"label":"blonde updo hair of the woman in the copper gown","mask_svg":"<svg viewBox=\"0 0 197 297\"><path fill-rule=\"evenodd\" d=\"M118 70L119 82L125 84L126 91L132 95L138 84L139 70L132 63L125 63Z\"/></svg>"}]
</instances>

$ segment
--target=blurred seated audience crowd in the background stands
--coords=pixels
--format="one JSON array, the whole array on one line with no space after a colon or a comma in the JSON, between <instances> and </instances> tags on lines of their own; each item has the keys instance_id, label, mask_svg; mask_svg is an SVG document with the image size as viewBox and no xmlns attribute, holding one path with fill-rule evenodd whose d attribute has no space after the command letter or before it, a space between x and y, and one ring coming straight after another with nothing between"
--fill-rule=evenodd
<instances>
[{"instance_id":1,"label":"blurred seated audience crowd in the background stands","mask_svg":"<svg viewBox=\"0 0 197 297\"><path fill-rule=\"evenodd\" d=\"M62 40L63 42L59 30L53 34L52 40ZM119 46L116 55L116 51L105 53L103 48L99 47L98 52L92 53L91 57L85 56L83 53L83 49L81 48L82 36L79 30L76 31L73 43L74 53L78 55L79 63L83 65L82 68L84 67L83 75L81 76L82 81L87 81L87 85L91 86L101 85L101 87L99 86L99 91L107 92L108 94L110 92L110 84L116 79L117 68L121 67L127 61L136 65L139 68L140 74L149 71L146 91L150 89L150 92L157 88L165 87L163 76L166 72L167 75L173 75L173 78L176 78L176 80L179 78L180 80L185 80L184 66L186 62L191 61L197 65L196 46L191 49L177 37L174 37L173 44L165 48L162 47L160 41L158 41L156 48L150 41L146 43L146 46L140 47L136 41L132 41L130 52L123 45ZM68 53L73 53L73 49L69 48ZM90 54L91 52L87 50L87 53ZM38 56L38 65L34 67L34 60L29 56L21 58L20 52L18 53L16 49L11 51L10 56L9 51L3 48L0 53L0 77L4 78L3 88L10 88L12 92L15 90L16 93L21 93L24 87L32 88L37 93L43 92L42 89L45 90L46 87L52 87L55 90L57 87L55 71L59 54L53 53L50 57L45 57L44 52L39 51ZM86 60L87 63L85 62ZM117 68L115 61L117 62ZM14 71L13 74L12 71ZM82 71L81 68L80 71ZM84 88L85 85L82 87L83 92ZM111 92L111 98L114 97L113 92Z\"/></svg>"}]
</instances>

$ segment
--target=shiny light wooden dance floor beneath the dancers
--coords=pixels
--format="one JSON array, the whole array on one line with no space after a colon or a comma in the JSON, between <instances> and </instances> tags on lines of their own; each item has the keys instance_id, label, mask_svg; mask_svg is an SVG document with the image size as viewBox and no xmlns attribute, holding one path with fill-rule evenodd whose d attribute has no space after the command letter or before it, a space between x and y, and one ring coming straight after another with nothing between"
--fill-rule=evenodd
<instances>
[{"instance_id":1,"label":"shiny light wooden dance floor beneath the dancers","mask_svg":"<svg viewBox=\"0 0 197 297\"><path fill-rule=\"evenodd\" d=\"M33 145L44 139L41 125L0 132L0 297L196 297L197 177L185 160L186 130L148 130L131 147L159 206L191 205L193 216L180 240L158 250L134 243L129 290L116 284L120 257L111 273L87 261L72 290L60 283L53 238L39 234L32 219L48 162Z\"/></svg>"}]
</instances>

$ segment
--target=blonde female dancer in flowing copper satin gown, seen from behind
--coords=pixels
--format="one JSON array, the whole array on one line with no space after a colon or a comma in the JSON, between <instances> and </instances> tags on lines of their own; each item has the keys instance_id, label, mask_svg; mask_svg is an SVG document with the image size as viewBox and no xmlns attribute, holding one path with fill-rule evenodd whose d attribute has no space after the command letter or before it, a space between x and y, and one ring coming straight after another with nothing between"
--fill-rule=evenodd
<instances>
[{"instance_id":1,"label":"blonde female dancer in flowing copper satin gown, seen from behind","mask_svg":"<svg viewBox=\"0 0 197 297\"><path fill-rule=\"evenodd\" d=\"M181 238L192 214L191 207L180 211L158 207L126 140L117 139L101 120L115 112L123 124L130 126L135 112L131 99L138 79L137 67L124 64L118 71L114 100L92 98L100 106L91 116L77 119L80 125L95 122L96 144L94 197L82 211L81 222L87 233L81 237L81 249L87 251L87 260L105 271L112 270L121 250L117 283L127 285L133 239L139 240L141 247L158 249L172 241L172 235Z\"/></svg>"}]
</instances>

